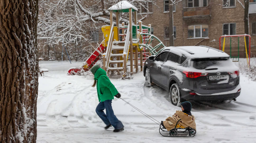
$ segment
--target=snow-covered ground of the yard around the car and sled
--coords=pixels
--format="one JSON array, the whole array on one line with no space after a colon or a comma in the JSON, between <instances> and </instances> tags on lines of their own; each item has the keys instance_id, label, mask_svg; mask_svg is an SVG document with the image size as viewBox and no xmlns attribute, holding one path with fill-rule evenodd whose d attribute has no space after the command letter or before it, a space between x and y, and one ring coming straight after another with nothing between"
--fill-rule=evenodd
<instances>
[{"instance_id":1,"label":"snow-covered ground of the yard around the car and sled","mask_svg":"<svg viewBox=\"0 0 256 143\"><path fill-rule=\"evenodd\" d=\"M256 63L256 62L255 62ZM253 63L253 64L255 64ZM252 63L251 63L252 64ZM44 76L39 76L37 102L37 142L256 142L256 82L240 74L241 94L231 103L192 102L197 133L194 137L163 137L159 125L121 99L112 101L115 115L124 124L124 131L104 130L104 123L95 113L98 104L93 75L67 75L70 67L82 62L40 61ZM157 121L181 110L171 104L169 93L144 86L142 73L133 79L110 77L121 98L152 116Z\"/></svg>"}]
</instances>

